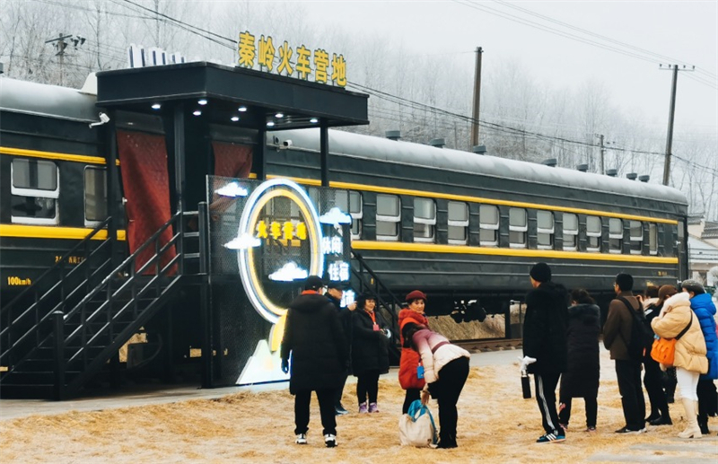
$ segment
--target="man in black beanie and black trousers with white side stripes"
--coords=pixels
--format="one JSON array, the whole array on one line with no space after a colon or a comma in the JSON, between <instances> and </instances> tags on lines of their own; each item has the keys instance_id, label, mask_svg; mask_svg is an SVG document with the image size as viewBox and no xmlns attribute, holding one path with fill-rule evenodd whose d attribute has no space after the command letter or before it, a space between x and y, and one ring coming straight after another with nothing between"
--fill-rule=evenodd
<instances>
[{"instance_id":1,"label":"man in black beanie and black trousers with white side stripes","mask_svg":"<svg viewBox=\"0 0 718 464\"><path fill-rule=\"evenodd\" d=\"M567 295L563 286L551 282L551 268L546 263L531 267L530 279L533 290L526 295L523 355L536 359L528 372L536 380L538 410L546 430L537 442L563 442L565 430L556 414L556 384L566 369Z\"/></svg>"}]
</instances>

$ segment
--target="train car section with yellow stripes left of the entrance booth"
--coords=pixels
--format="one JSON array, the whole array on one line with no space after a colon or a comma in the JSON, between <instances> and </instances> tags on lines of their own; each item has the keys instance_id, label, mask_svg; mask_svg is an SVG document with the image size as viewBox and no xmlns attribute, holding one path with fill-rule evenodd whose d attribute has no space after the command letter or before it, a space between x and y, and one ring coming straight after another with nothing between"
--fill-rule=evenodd
<instances>
[{"instance_id":1,"label":"train car section with yellow stripes left of the entrance booth","mask_svg":"<svg viewBox=\"0 0 718 464\"><path fill-rule=\"evenodd\" d=\"M35 282L106 219L105 134L101 127L90 127L97 121L92 94L13 79L0 84L4 302ZM107 232L94 238L104 240ZM73 266L83 259L84 251L68 263Z\"/></svg>"}]
</instances>

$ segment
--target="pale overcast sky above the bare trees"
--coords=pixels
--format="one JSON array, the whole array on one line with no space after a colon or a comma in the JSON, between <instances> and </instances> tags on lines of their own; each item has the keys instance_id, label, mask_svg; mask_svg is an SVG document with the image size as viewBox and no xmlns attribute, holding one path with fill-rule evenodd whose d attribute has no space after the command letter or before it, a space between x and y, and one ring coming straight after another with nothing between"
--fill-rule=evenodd
<instances>
[{"instance_id":1,"label":"pale overcast sky above the bare trees","mask_svg":"<svg viewBox=\"0 0 718 464\"><path fill-rule=\"evenodd\" d=\"M587 36L565 25L549 22L511 8L503 1L460 0L316 2L302 0L312 22L341 24L356 37L377 37L402 44L417 54L453 54L458 63L473 69L473 50L484 48L484 73L492 63L512 60L540 83L578 87L602 83L613 105L626 114L639 114L653 127L666 127L670 103L671 72L659 64L695 65L698 72L679 73L676 125L687 133L718 133L718 1L704 2L512 2L531 13L565 22L608 39L645 51L621 47L615 42ZM503 16L519 18L564 34L592 39L602 46L619 48L640 57L598 48L578 39L541 31ZM652 57L652 52L668 58ZM351 56L346 56L351 80ZM708 73L708 74L705 74ZM700 79L704 83L696 82Z\"/></svg>"}]
</instances>

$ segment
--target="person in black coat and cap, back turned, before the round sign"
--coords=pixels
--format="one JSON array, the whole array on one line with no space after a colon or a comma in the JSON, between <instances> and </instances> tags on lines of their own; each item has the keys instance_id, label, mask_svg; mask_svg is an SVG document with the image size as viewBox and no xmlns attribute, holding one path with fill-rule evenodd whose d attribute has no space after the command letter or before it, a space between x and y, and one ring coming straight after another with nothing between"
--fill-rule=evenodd
<instances>
[{"instance_id":1,"label":"person in black coat and cap, back turned, before the round sign","mask_svg":"<svg viewBox=\"0 0 718 464\"><path fill-rule=\"evenodd\" d=\"M311 391L320 403L324 443L337 446L334 398L345 380L348 352L346 338L334 305L320 294L319 276L309 276L304 292L289 305L282 339L282 370L292 372L289 392L294 395L294 433L297 444L306 444Z\"/></svg>"}]
</instances>

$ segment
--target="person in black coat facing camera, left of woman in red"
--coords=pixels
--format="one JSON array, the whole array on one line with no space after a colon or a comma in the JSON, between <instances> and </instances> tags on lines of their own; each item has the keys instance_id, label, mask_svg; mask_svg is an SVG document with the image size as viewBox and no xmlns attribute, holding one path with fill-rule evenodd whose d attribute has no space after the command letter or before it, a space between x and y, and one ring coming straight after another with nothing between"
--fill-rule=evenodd
<instances>
[{"instance_id":1,"label":"person in black coat facing camera, left of woman in red","mask_svg":"<svg viewBox=\"0 0 718 464\"><path fill-rule=\"evenodd\" d=\"M389 372L387 328L376 315L376 301L364 293L352 314L352 372L356 376L356 398L360 413L378 413L379 376ZM367 397L369 403L367 404Z\"/></svg>"}]
</instances>

